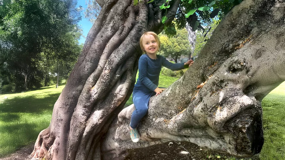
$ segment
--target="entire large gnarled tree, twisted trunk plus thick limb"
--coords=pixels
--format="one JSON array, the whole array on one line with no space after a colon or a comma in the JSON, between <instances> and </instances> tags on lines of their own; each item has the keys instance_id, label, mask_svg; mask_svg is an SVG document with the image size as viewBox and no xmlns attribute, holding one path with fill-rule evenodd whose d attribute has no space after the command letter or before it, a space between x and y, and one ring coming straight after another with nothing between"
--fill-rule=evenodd
<instances>
[{"instance_id":1,"label":"entire large gnarled tree, twisted trunk plus thick limb","mask_svg":"<svg viewBox=\"0 0 285 160\"><path fill-rule=\"evenodd\" d=\"M284 0L245 0L232 9L194 65L151 97L139 126L141 140L132 143L134 106L122 108L135 82L139 38L163 29L158 8L163 2L146 2L100 1L101 13L54 105L50 126L39 134L34 158L124 159L134 148L173 140L236 156L260 152L260 102L285 80ZM168 23L180 1L170 2Z\"/></svg>"}]
</instances>

